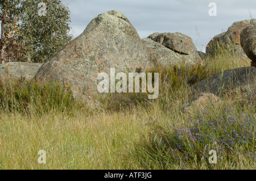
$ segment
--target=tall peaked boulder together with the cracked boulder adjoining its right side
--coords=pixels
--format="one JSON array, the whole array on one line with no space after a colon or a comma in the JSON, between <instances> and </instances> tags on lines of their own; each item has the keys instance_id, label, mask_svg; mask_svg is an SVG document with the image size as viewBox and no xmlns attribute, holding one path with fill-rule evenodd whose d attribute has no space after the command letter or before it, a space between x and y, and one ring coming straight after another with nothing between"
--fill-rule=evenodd
<instances>
[{"instance_id":1,"label":"tall peaked boulder together with the cracked boulder adjoining its right side","mask_svg":"<svg viewBox=\"0 0 256 181\"><path fill-rule=\"evenodd\" d=\"M36 74L37 79L57 74L71 86L76 98L90 99L97 94L97 75L134 73L155 64L184 61L202 62L190 37L182 33L154 33L141 40L122 12L98 15L76 39L51 57Z\"/></svg>"}]
</instances>

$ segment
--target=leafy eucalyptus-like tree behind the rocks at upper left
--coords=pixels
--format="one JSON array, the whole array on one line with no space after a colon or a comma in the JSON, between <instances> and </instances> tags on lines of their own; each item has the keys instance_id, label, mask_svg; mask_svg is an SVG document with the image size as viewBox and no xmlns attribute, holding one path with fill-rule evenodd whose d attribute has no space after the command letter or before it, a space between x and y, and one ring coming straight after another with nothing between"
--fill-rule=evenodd
<instances>
[{"instance_id":1,"label":"leafy eucalyptus-like tree behind the rocks at upper left","mask_svg":"<svg viewBox=\"0 0 256 181\"><path fill-rule=\"evenodd\" d=\"M46 16L39 14L40 2L46 5ZM70 11L60 0L1 0L0 7L4 29L1 54L5 52L2 60L45 62L72 39Z\"/></svg>"}]
</instances>

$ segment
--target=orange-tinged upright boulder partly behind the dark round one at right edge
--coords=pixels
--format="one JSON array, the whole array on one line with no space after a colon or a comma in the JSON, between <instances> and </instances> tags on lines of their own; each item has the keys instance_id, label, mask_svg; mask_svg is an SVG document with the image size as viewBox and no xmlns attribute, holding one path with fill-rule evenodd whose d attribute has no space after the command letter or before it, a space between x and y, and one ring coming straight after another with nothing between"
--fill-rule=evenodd
<instances>
[{"instance_id":1,"label":"orange-tinged upright boulder partly behind the dark round one at right edge","mask_svg":"<svg viewBox=\"0 0 256 181\"><path fill-rule=\"evenodd\" d=\"M249 25L250 20L234 22L232 26L228 28L228 31L214 36L207 45L207 56L215 56L216 53L218 54L222 52L222 49L228 49L229 51L240 55L243 60L247 60L247 56L241 48L240 34L242 30Z\"/></svg>"}]
</instances>

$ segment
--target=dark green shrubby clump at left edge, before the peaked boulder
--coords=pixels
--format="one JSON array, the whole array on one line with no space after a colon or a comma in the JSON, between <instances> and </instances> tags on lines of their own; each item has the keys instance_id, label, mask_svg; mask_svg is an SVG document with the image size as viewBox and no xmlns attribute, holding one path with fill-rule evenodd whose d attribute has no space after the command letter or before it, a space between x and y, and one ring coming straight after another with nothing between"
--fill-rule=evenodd
<instances>
[{"instance_id":1,"label":"dark green shrubby clump at left edge, before the peaked boulder","mask_svg":"<svg viewBox=\"0 0 256 181\"><path fill-rule=\"evenodd\" d=\"M57 78L38 82L24 78L0 82L0 109L6 112L46 113L72 111L79 106L69 88Z\"/></svg>"}]
</instances>

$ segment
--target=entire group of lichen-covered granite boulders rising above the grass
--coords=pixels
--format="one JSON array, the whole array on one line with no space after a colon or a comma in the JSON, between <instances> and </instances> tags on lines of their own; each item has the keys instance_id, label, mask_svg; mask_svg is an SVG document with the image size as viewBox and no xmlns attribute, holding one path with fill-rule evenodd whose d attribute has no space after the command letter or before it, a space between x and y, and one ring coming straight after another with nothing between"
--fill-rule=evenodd
<instances>
[{"instance_id":1,"label":"entire group of lichen-covered granite boulders rising above the grass","mask_svg":"<svg viewBox=\"0 0 256 181\"><path fill-rule=\"evenodd\" d=\"M153 68L156 64L203 64L205 58L216 55L222 48L228 48L244 59L250 58L251 66L256 67L255 37L255 19L235 22L228 31L214 36L207 45L206 53L203 53L197 51L191 37L180 32L153 33L141 39L126 16L114 10L94 18L80 36L65 45L45 64L3 64L0 65L0 76L23 75L40 80L57 75L65 86L71 87L74 98L90 101L98 94L97 75L102 72L109 74L110 68L116 72L134 73ZM226 70L196 85L193 85L195 81L192 80L189 86L208 99L209 96L204 92L218 95L218 92L230 87L237 89L248 82L255 84L255 74L256 68L253 67Z\"/></svg>"}]
</instances>

